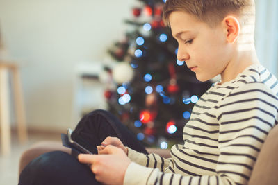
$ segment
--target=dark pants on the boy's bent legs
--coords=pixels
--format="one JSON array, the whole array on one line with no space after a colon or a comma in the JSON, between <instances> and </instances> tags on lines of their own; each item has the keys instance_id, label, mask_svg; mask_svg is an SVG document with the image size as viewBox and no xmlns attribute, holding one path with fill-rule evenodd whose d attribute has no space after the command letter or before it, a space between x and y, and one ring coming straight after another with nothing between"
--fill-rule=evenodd
<instances>
[{"instance_id":1,"label":"dark pants on the boy's bent legs","mask_svg":"<svg viewBox=\"0 0 278 185\"><path fill-rule=\"evenodd\" d=\"M147 153L145 147L136 139L113 114L104 110L95 110L84 116L72 133L74 141L91 152L107 136L118 137L124 146L138 152ZM48 152L33 159L19 176L19 185L86 185L99 184L87 165L79 163L76 157L65 152Z\"/></svg>"}]
</instances>

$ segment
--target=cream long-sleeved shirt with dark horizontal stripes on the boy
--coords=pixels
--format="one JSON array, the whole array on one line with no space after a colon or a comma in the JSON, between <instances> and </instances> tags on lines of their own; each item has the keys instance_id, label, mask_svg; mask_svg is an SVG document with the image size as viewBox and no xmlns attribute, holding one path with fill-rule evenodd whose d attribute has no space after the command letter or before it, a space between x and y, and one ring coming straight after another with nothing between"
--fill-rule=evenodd
<instances>
[{"instance_id":1,"label":"cream long-sleeved shirt with dark horizontal stripes on the boy","mask_svg":"<svg viewBox=\"0 0 278 185\"><path fill-rule=\"evenodd\" d=\"M277 125L278 82L259 64L199 98L171 157L129 148L124 184L247 184L268 132Z\"/></svg>"}]
</instances>

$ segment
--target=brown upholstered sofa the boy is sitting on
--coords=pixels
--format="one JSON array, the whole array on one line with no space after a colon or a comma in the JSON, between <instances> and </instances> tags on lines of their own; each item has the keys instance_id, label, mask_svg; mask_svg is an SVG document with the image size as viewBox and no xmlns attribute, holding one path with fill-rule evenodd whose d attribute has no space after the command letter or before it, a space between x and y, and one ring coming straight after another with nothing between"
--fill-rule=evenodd
<instances>
[{"instance_id":1,"label":"brown upholstered sofa the boy is sitting on","mask_svg":"<svg viewBox=\"0 0 278 185\"><path fill-rule=\"evenodd\" d=\"M54 150L70 153L70 148L62 146L58 141L40 141L23 152L19 160L19 174L29 161ZM162 157L170 157L170 150L147 148L148 152L154 152ZM249 185L278 185L278 126L275 126L267 138L259 156L256 159Z\"/></svg>"}]
</instances>

